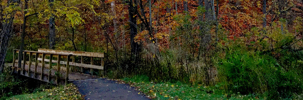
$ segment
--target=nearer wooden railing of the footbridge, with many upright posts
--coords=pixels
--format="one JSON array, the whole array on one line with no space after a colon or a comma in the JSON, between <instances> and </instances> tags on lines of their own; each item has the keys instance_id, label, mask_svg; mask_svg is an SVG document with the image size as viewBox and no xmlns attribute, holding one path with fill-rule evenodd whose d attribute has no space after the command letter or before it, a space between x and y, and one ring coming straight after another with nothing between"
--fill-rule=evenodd
<instances>
[{"instance_id":1,"label":"nearer wooden railing of the footbridge, with many upright posts","mask_svg":"<svg viewBox=\"0 0 303 100\"><path fill-rule=\"evenodd\" d=\"M72 55L69 54L60 54L60 53L46 53L46 52L36 52L36 51L23 51L22 55L22 65L21 68L18 68L18 55L19 54L19 50L14 50L13 52L13 67L12 67L12 71L15 72L15 65L17 65L17 73L28 76L28 77L32 77L35 79L39 79L45 82L50 82L51 80L55 81L55 84L59 84L61 81L61 75L60 75L60 70L65 70L65 84L68 83L68 74L69 74L69 60L62 61L63 59L69 59ZM35 57L34 57L35 55ZM55 59L56 58L56 59ZM33 62L34 60L34 63ZM46 64L45 62L48 62L48 64ZM17 64L16 64L17 63ZM25 70L25 63L28 63L28 69L27 71ZM56 66L53 66L53 63L56 63ZM34 70L31 70L31 65L35 65ZM63 66L62 66L63 65ZM37 72L37 67L41 66L41 71ZM48 75L45 75L44 73L44 69L48 68L49 72ZM62 68L63 67L63 68ZM40 69L40 68L39 68ZM52 73L52 70L56 70L55 73ZM19 72L21 71L21 72ZM31 74L32 72L34 72L33 74ZM55 79L52 79L52 74L55 75ZM37 77L36 77L37 76ZM38 77L40 76L40 77ZM45 79L45 77L47 79Z\"/></svg>"}]
</instances>

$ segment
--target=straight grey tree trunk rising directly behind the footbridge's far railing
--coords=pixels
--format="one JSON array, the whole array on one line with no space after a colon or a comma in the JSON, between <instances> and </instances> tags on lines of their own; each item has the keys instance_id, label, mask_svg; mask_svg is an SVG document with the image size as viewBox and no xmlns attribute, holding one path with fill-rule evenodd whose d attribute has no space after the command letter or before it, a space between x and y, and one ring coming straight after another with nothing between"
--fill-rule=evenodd
<instances>
[{"instance_id":1,"label":"straight grey tree trunk rising directly behind the footbridge's far railing","mask_svg":"<svg viewBox=\"0 0 303 100\"><path fill-rule=\"evenodd\" d=\"M50 7L53 7L54 0L48 0L50 2ZM49 49L55 49L56 45L56 28L55 28L55 15L52 14L52 17L49 18L49 33L48 33L48 39L49 39Z\"/></svg>"}]
</instances>

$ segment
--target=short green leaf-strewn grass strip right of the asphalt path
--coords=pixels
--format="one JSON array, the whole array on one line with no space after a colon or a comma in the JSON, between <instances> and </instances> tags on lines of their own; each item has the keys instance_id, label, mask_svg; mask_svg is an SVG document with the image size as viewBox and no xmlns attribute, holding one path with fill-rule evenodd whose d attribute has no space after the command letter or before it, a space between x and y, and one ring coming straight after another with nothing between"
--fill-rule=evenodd
<instances>
[{"instance_id":1,"label":"short green leaf-strewn grass strip right of the asphalt path","mask_svg":"<svg viewBox=\"0 0 303 100\"><path fill-rule=\"evenodd\" d=\"M124 81L138 88L154 100L256 100L257 95L226 94L218 86L187 85L182 82L154 83L144 75L124 78Z\"/></svg>"}]
</instances>

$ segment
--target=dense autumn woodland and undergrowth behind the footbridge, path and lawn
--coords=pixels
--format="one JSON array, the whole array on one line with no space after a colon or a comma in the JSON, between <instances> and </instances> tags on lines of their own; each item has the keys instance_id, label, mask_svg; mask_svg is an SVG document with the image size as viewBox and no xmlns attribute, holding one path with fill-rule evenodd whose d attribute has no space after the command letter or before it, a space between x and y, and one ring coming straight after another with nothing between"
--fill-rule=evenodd
<instances>
[{"instance_id":1,"label":"dense autumn woodland and undergrowth behind the footbridge, path and lawn","mask_svg":"<svg viewBox=\"0 0 303 100\"><path fill-rule=\"evenodd\" d=\"M300 99L302 2L1 0L1 81L12 81L4 63L12 62L13 49L48 48L106 53L110 78L139 74L155 82Z\"/></svg>"}]
</instances>

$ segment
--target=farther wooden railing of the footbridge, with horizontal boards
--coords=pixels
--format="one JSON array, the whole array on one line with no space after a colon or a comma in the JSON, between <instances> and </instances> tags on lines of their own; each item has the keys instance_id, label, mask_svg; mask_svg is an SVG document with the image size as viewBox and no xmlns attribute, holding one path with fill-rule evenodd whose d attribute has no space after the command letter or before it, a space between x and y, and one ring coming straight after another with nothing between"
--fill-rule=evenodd
<instances>
[{"instance_id":1,"label":"farther wooden railing of the footbridge, with horizontal boards","mask_svg":"<svg viewBox=\"0 0 303 100\"><path fill-rule=\"evenodd\" d=\"M46 53L59 53L59 54L69 54L72 55L72 62L69 65L80 67L81 73L83 73L84 68L90 68L90 73L93 75L93 69L100 69L101 75L104 73L104 53L96 53L96 52L76 52L76 51L63 51L63 50L49 50L49 49L38 49L38 52L46 52ZM81 57L81 63L76 63L76 56ZM90 64L84 63L84 57L90 58ZM94 57L101 58L101 65L94 65ZM73 67L71 68L71 70Z\"/></svg>"}]
</instances>

